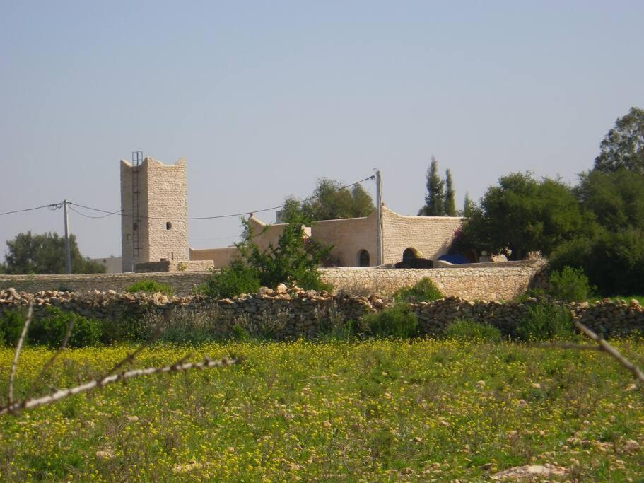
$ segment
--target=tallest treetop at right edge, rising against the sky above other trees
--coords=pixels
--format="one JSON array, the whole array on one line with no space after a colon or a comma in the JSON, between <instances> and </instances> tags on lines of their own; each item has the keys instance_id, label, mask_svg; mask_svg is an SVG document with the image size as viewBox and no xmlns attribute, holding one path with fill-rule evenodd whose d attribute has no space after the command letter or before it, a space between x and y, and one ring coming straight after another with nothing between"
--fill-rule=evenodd
<instances>
[{"instance_id":1,"label":"tallest treetop at right edge, rising against the sky above other trees","mask_svg":"<svg viewBox=\"0 0 644 483\"><path fill-rule=\"evenodd\" d=\"M615 122L600 145L595 169L609 173L626 168L644 174L644 110L631 107L627 115Z\"/></svg>"}]
</instances>

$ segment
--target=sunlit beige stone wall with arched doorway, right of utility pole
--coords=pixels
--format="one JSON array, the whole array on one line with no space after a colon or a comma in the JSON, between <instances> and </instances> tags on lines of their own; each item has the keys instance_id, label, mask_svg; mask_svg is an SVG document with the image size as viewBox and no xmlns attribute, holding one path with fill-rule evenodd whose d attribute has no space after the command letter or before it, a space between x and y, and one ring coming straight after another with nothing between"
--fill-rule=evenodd
<instances>
[{"instance_id":1,"label":"sunlit beige stone wall with arched doorway, right of utility pole","mask_svg":"<svg viewBox=\"0 0 644 483\"><path fill-rule=\"evenodd\" d=\"M459 216L402 216L383 206L383 262L400 262L407 248L416 250L419 257L436 260L447 253L461 223Z\"/></svg>"}]
</instances>

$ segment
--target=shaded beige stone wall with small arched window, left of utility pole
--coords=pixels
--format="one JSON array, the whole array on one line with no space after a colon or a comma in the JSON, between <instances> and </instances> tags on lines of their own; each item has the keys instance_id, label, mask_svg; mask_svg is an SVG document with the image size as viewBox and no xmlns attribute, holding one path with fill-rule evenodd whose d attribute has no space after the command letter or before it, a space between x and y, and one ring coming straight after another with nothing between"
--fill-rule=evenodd
<instances>
[{"instance_id":1,"label":"shaded beige stone wall with small arched window, left of utility pole","mask_svg":"<svg viewBox=\"0 0 644 483\"><path fill-rule=\"evenodd\" d=\"M339 260L341 267L359 267L361 250L369 252L370 266L376 264L376 231L375 212L363 218L315 221L311 225L311 237L324 245L332 245L331 255Z\"/></svg>"}]
</instances>

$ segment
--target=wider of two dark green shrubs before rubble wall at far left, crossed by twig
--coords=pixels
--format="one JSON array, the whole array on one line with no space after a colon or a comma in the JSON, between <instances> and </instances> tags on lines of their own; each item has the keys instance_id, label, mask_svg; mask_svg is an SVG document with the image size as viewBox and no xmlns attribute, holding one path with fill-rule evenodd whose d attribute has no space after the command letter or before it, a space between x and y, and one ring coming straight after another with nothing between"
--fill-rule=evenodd
<instances>
[{"instance_id":1,"label":"wider of two dark green shrubs before rubble wall at far left, crossed by twig","mask_svg":"<svg viewBox=\"0 0 644 483\"><path fill-rule=\"evenodd\" d=\"M45 315L33 320L29 330L29 339L35 344L58 347L65 337L71 320L74 320L74 327L72 327L67 342L69 347L86 347L98 344L102 332L99 320L88 319L78 313L66 312L54 307L47 308Z\"/></svg>"}]
</instances>

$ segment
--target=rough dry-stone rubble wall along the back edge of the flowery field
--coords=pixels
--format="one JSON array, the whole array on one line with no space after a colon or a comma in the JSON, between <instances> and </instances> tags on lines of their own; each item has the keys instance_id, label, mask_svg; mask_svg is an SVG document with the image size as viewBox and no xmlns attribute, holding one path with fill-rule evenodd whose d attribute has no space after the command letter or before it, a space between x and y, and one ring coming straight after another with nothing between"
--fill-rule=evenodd
<instances>
[{"instance_id":1,"label":"rough dry-stone rubble wall along the back edge of the flowery field","mask_svg":"<svg viewBox=\"0 0 644 483\"><path fill-rule=\"evenodd\" d=\"M49 306L81 313L100 320L124 322L127 318L141 319L146 313L164 313L168 309L192 313L206 313L209 323L230 328L231 325L271 327L277 339L289 337L318 337L332 327L344 327L348 320L377 312L393 304L383 296L332 295L327 292L286 289L262 289L260 293L211 301L202 296L168 298L161 293L87 292L69 293L41 291L30 294L13 289L0 291L0 313L12 308L26 308L34 301L36 316ZM442 334L445 327L456 319L469 318L498 327L504 334L513 334L525 311L539 303L529 298L523 303L497 301L466 301L449 297L438 301L410 304L418 315L421 334ZM597 303L561 303L573 318L580 320L598 334L605 336L644 332L644 308L636 300L630 302L608 300Z\"/></svg>"}]
</instances>

